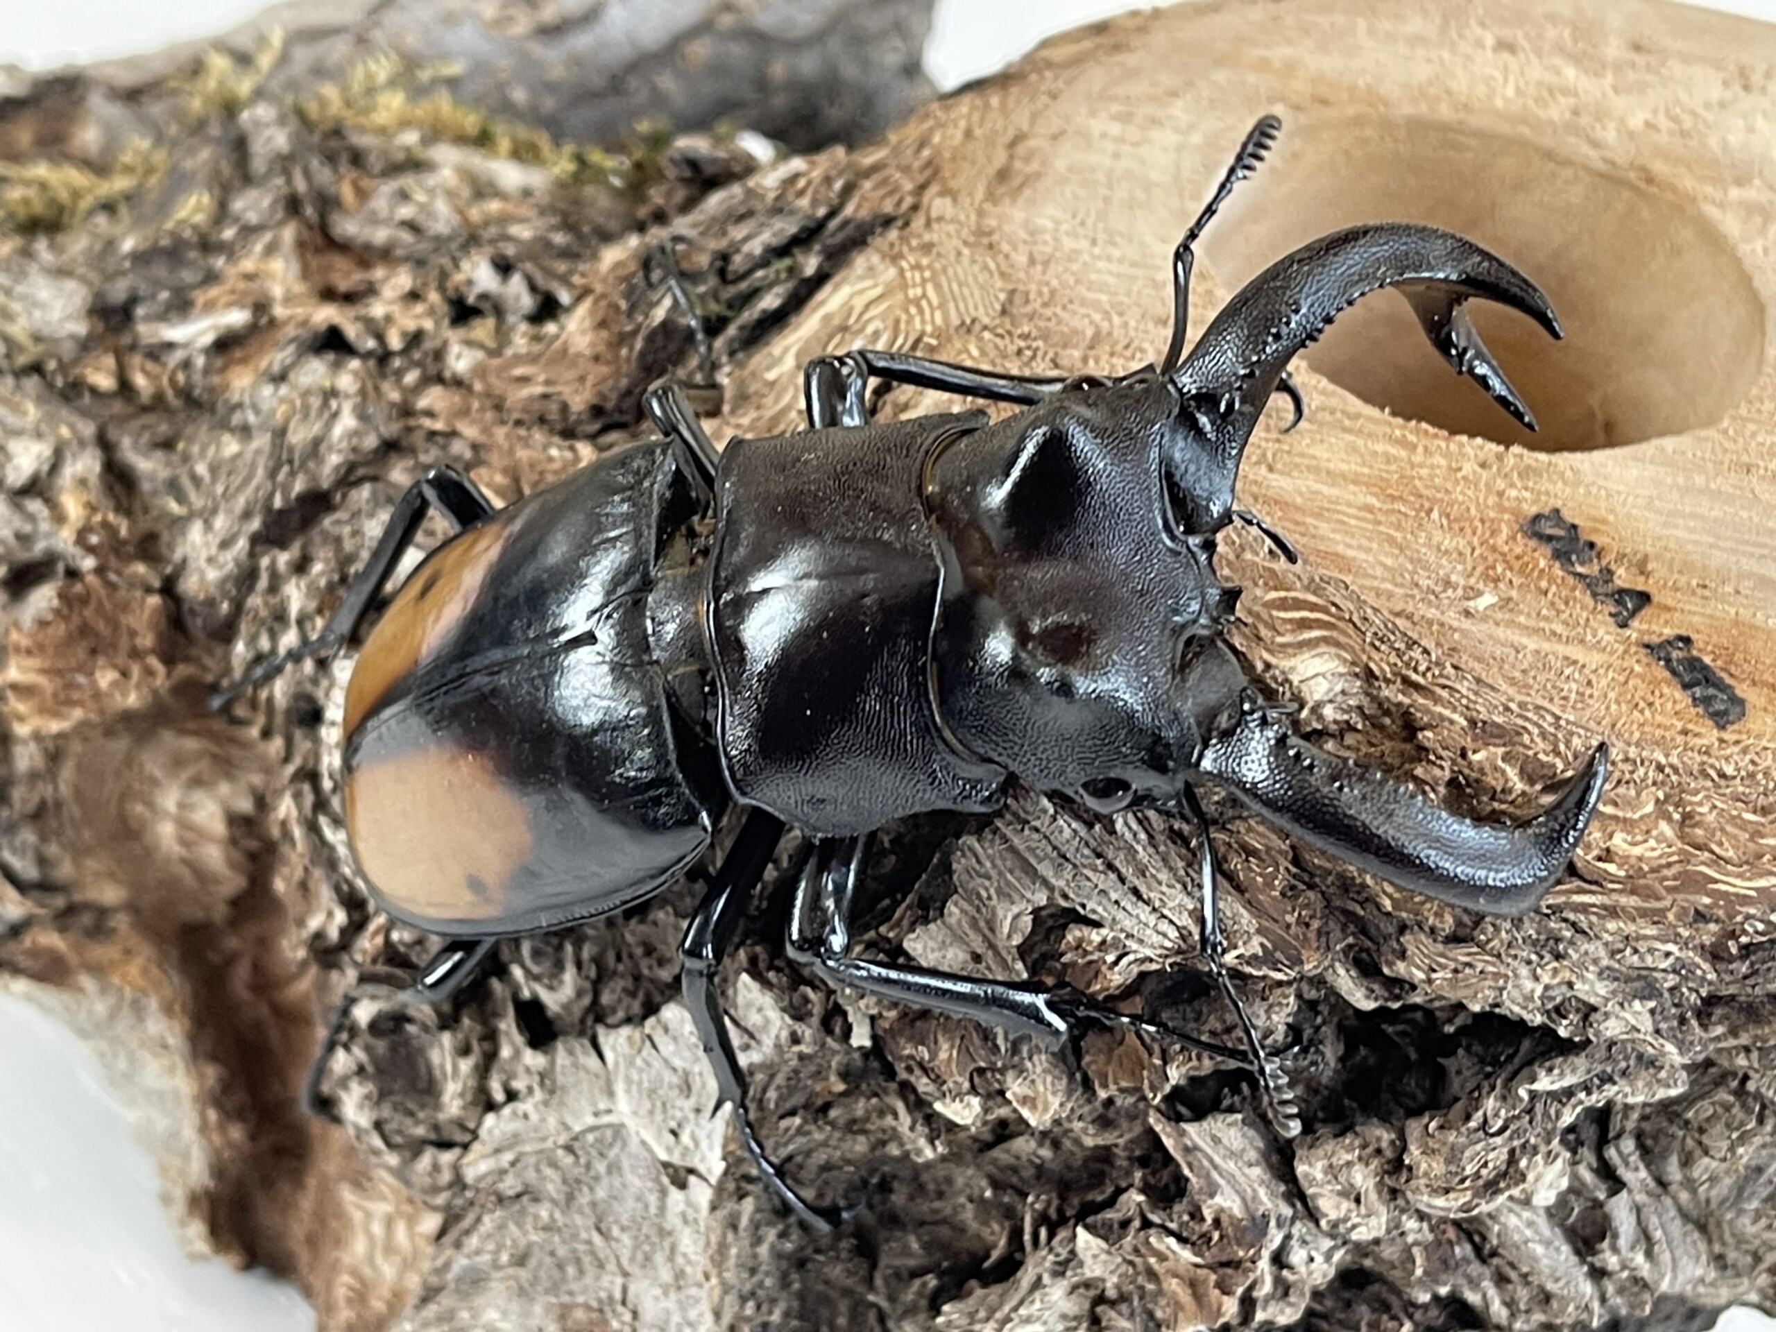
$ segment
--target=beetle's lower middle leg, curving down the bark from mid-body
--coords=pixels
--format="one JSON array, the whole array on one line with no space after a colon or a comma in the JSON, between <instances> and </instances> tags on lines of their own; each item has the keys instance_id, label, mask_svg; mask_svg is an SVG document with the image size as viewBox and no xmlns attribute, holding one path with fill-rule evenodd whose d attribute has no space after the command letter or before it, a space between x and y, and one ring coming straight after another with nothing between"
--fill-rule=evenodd
<instances>
[{"instance_id":1,"label":"beetle's lower middle leg, curving down the bark from mid-body","mask_svg":"<svg viewBox=\"0 0 1776 1332\"><path fill-rule=\"evenodd\" d=\"M785 1206L813 1229L829 1231L844 1220L844 1213L817 1208L790 1188L778 1165L765 1156L765 1149L753 1131L753 1121L746 1114L746 1073L733 1053L728 1019L721 1011L721 993L716 989L721 959L728 945L733 943L733 932L751 904L753 888L771 867L771 854L781 836L783 821L764 810L753 810L741 824L733 845L723 858L721 868L716 870L716 879L709 884L696 915L691 916L684 943L678 947L678 957L684 963L684 1002L691 1009L696 1034L703 1041L703 1053L716 1071L716 1108L733 1106L733 1122L741 1131L741 1142L746 1144L746 1154L753 1158L760 1177L783 1199Z\"/></svg>"}]
</instances>

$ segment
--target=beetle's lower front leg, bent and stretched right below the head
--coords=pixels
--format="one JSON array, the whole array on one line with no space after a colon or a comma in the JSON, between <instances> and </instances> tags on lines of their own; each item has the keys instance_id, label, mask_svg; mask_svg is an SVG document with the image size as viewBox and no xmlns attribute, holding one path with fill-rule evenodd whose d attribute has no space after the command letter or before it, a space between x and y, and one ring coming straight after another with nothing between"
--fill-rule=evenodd
<instances>
[{"instance_id":1,"label":"beetle's lower front leg, bent and stretched right below the head","mask_svg":"<svg viewBox=\"0 0 1776 1332\"><path fill-rule=\"evenodd\" d=\"M1090 1000L1035 984L977 980L916 966L868 963L851 955L851 900L863 863L863 838L821 842L796 884L790 911L789 955L817 971L828 984L865 995L945 1012L952 1018L998 1027L1012 1035L1034 1035L1050 1050L1062 1050L1078 1037L1080 1023L1099 1023L1142 1032L1156 1041L1197 1050L1241 1067L1254 1067L1243 1050L1199 1041L1186 1032L1117 1012Z\"/></svg>"}]
</instances>

